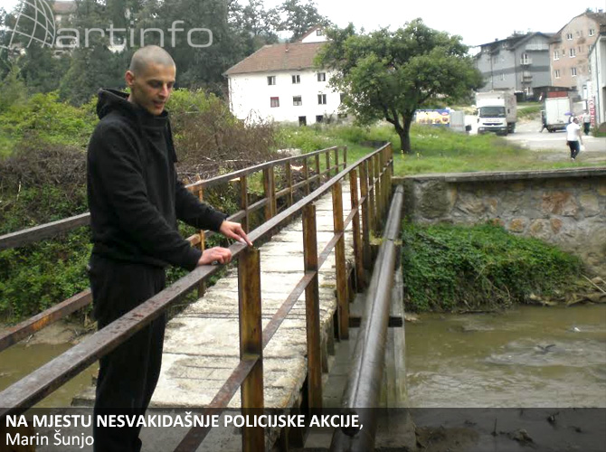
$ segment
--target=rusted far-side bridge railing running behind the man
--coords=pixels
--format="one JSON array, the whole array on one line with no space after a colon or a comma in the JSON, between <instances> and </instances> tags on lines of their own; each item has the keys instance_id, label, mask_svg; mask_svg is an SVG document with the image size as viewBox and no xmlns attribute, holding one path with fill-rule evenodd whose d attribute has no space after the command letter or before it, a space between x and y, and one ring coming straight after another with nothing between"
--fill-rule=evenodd
<instances>
[{"instance_id":1,"label":"rusted far-side bridge railing running behind the man","mask_svg":"<svg viewBox=\"0 0 606 452\"><path fill-rule=\"evenodd\" d=\"M276 192L276 186L273 182L268 182L268 190L266 191L266 197L261 199L259 202L254 202L249 205L248 203L248 193L246 191L247 182L246 176L249 174L254 174L259 171L266 171L270 168L275 167L276 165L286 164L287 168L290 169L290 165L292 162L296 162L298 160L304 159L307 161L311 157L318 158L319 155L326 154L329 155L331 152L338 153L339 147L332 146L327 147L326 149L320 149L308 154L304 155L295 155L292 157L285 157L279 160L273 160L270 162L265 162L260 165L251 166L249 168L243 168L239 171L230 174L223 174L221 176L213 177L212 179L202 180L195 182L194 184L187 185L187 188L195 193L201 201L204 200L204 188L210 186L216 186L222 183L232 182L234 179L238 177L241 178L241 210L238 212L232 213L228 217L230 221L243 221L243 226L246 231L249 228L249 216L253 212L257 212L261 208L265 208L266 212L269 212L269 217L275 215L276 212L276 201L282 198L283 196L290 195L291 201L289 204L292 204L292 193L296 191L299 187L302 187L304 184L308 184L311 181L321 180L321 177L325 174L330 174L330 171L333 169L331 166L327 166L325 171L318 173L312 177L309 177L308 181L301 181L297 184L292 184L292 175L289 174L289 187L283 189L279 192ZM346 165L346 147L342 148L342 152L344 155L343 165ZM336 172L338 172L338 166L335 168ZM267 215L267 213L266 213ZM67 218L60 221L52 221L50 223L42 224L39 226L35 226L33 228L29 228L23 231L16 231L9 234L5 234L0 236L0 250L6 250L9 248L16 248L20 246L24 246L29 243L33 243L34 241L43 240L51 238L57 234L61 234L62 232L71 231L73 229L88 226L90 224L90 213L82 213L80 215L76 215L71 218ZM198 233L187 238L189 242L193 246L197 246L201 250L204 250L204 240L208 237L211 237L213 232L207 231L198 231ZM198 287L198 294L202 296L204 294L204 282L200 284ZM90 289L86 289L80 294L74 295L61 303L52 306L49 309L39 313L38 315L34 315L32 318L24 320L24 322L19 323L18 325L14 325L10 328L7 328L5 331L0 333L0 352L5 350L5 348L18 343L20 340L29 336L30 334L36 333L40 331L43 327L51 325L52 323L61 320L67 315L71 315L73 312L78 309L87 306L92 301L90 297Z\"/></svg>"}]
</instances>

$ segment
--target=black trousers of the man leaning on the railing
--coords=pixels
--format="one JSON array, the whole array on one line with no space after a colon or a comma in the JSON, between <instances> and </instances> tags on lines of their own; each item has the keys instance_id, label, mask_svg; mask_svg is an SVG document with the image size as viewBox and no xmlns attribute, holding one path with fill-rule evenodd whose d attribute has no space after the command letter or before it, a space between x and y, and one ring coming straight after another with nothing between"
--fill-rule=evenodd
<instances>
[{"instance_id":1,"label":"black trousers of the man leaning on the railing","mask_svg":"<svg viewBox=\"0 0 606 452\"><path fill-rule=\"evenodd\" d=\"M92 255L90 287L99 330L166 287L164 268ZM138 452L141 428L97 426L98 415L145 414L162 364L166 315L99 360L93 437L95 452Z\"/></svg>"}]
</instances>

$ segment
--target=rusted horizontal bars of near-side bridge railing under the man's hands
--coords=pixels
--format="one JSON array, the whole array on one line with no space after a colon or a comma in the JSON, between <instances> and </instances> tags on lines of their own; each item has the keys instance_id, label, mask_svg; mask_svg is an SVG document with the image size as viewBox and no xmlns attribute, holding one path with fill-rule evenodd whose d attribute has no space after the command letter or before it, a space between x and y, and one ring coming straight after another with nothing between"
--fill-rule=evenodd
<instances>
[{"instance_id":1,"label":"rusted horizontal bars of near-side bridge railing under the man's hands","mask_svg":"<svg viewBox=\"0 0 606 452\"><path fill-rule=\"evenodd\" d=\"M346 166L346 162L344 161L344 164L342 165L345 165L346 167L342 172L338 173L337 169L337 174L326 184L321 185L313 193L309 193L305 198L289 206L283 212L272 217L269 221L264 222L256 230L251 231L249 234L250 239L255 241L268 235L270 231L276 226L279 226L281 222L288 220L292 215L301 211L311 202L314 202L317 200L317 198L327 193L328 190L333 189L334 186L340 186L340 181L346 177L349 172L355 170L355 168L358 166L366 165L366 162L370 161L371 159L375 159L378 154L385 154L383 155L383 161L387 163L387 167L389 162L391 162L393 159L391 146L383 146L381 149L378 149L370 155L358 160L354 165ZM383 178L383 184L388 183L388 175L389 171L386 169L383 170L382 168L379 177ZM376 190L375 187L378 184L378 179L370 177L369 180L365 182L369 185L368 192L374 193L374 190ZM333 250L334 247L336 247L337 243L340 240L343 240L346 225L356 218L356 212L360 209L360 207L362 207L363 211L365 210L365 203L368 203L368 198L366 196L362 196L359 200L359 204L355 206L355 210L353 209L348 215L346 221L344 222L343 228L335 234L333 239L329 241L325 250L320 253L319 257L317 258L317 268L314 269L315 266L313 265L313 261L310 261L308 267L306 266L306 272L303 278L301 278L297 287L295 287L295 289L291 292L290 296L270 320L270 324L267 325L265 330L262 332L262 348L269 343L271 336L278 330L279 325L283 322L286 315L288 315L290 308L294 306L301 293L303 291L308 291L310 294L309 297L313 297L314 290L308 288L310 287L309 284L313 283L315 279L317 280L318 268L320 268L326 261L328 254L331 250ZM308 235L310 235L309 231ZM233 244L230 249L232 250L234 259L238 258L244 250L245 256L247 256L246 259L250 259L250 254L253 252L252 250L247 250L244 245L241 245L240 243ZM315 252L317 251L314 251L314 254ZM361 263L358 264L361 265ZM345 263L343 265L345 265ZM218 271L218 269L218 266L204 266L195 268L194 271L186 275L184 278L179 279L171 287L167 287L162 292L156 294L155 297L149 298L146 302L128 312L128 314L118 318L113 323L99 330L99 332L92 334L80 344L75 345L67 352L53 359L50 363L43 365L38 370L24 377L24 379L21 381L17 381L5 391L0 392L0 407L3 407L0 408L0 418L4 417L6 414L23 412L37 401L42 400L46 395L60 387L65 381L70 380L78 372L86 369L90 363L93 363L99 359L100 356L109 353L111 350L117 347L118 344L121 344L132 334L135 334L141 328L148 325L158 315L163 313L168 306L185 297L190 290L199 285L200 282L204 281L206 278L213 275L216 271ZM345 283L345 281L342 281L342 283ZM242 297L250 297L250 294L244 296L242 294L242 290L243 289L239 287L239 292L241 293L241 303ZM307 305L314 306L313 300L308 300ZM310 315L309 308L307 315ZM246 321L249 322L248 325L251 325L250 322L255 318L258 318L258 321L260 322L260 306L259 309L254 310L254 313L251 314L251 317ZM308 328L309 327L310 326L308 325ZM251 340L253 340L252 337ZM258 339L255 339L255 341L258 341ZM317 342L317 340L314 339L314 342ZM312 345L319 347L319 344ZM311 345L308 344L308 347L309 346ZM247 397L249 400L262 400L262 380L260 381L259 385L259 379L262 379L262 372L256 372L257 377L251 377L253 374L251 372L258 368L258 364L261 362L262 353L258 348L249 351L248 353L242 353L241 351L241 362L236 366L232 372L232 375L225 382L223 387L217 392L213 398L213 402L207 408L207 410L212 410L213 412L223 410L227 406L227 403L232 399L235 391L241 387L244 381L248 381L251 378L252 380L250 380L248 386L251 389L256 388L255 391L261 391L261 396L259 398L259 393L253 392ZM244 391L242 391L242 394L243 393ZM313 394L310 393L310 395ZM244 395L242 395L242 397L244 397ZM314 399L317 400L317 393ZM244 399L242 399L242 407L247 408ZM204 428L202 430L199 428L193 428L186 435L180 446L177 447L177 450L194 450L204 439L206 432L207 430ZM257 445L260 444L259 437L256 436L254 438L256 439L252 439L250 443L247 443L248 447L251 447L251 444L253 443L256 443Z\"/></svg>"}]
</instances>

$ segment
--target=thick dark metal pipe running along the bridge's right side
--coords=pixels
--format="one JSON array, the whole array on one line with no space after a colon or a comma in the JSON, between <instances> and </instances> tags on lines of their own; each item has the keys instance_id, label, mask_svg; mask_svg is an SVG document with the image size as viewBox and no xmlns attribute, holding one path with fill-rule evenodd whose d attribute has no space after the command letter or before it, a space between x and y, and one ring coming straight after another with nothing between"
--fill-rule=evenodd
<instances>
[{"instance_id":1,"label":"thick dark metal pipe running along the bridge's right side","mask_svg":"<svg viewBox=\"0 0 606 452\"><path fill-rule=\"evenodd\" d=\"M346 393L344 408L359 416L363 429L336 429L330 450L374 450L376 413L383 381L387 325L392 300L393 271L398 257L396 240L400 235L403 187L393 194L389 217L385 224L383 243L377 256L373 277L366 296L365 315L355 342L354 360Z\"/></svg>"}]
</instances>

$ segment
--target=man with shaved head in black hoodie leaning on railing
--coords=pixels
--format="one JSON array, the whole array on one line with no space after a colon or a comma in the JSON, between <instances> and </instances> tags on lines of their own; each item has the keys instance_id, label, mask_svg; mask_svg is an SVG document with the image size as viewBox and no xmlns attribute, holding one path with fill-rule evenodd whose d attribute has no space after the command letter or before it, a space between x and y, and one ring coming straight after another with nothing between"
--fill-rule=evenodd
<instances>
[{"instance_id":1,"label":"man with shaved head in black hoodie leaning on railing","mask_svg":"<svg viewBox=\"0 0 606 452\"><path fill-rule=\"evenodd\" d=\"M177 178L165 111L175 83L170 55L156 46L139 49L125 79L130 94L99 90L100 122L88 150L89 273L99 329L164 289L168 265L192 270L232 259L225 248L192 248L177 219L251 245L239 223L199 202ZM95 419L117 411L145 414L160 373L165 325L163 315L100 359ZM139 431L95 426L95 451L137 452Z\"/></svg>"}]
</instances>

